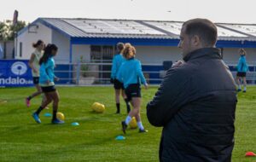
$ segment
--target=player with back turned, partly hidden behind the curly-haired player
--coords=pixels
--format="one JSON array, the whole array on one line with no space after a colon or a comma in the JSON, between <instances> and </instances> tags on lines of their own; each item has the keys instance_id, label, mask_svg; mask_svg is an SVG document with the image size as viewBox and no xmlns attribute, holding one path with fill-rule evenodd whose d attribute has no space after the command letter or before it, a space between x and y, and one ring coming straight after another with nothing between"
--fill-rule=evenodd
<instances>
[{"instance_id":1,"label":"player with back turned, partly hidden behind the curly-haired player","mask_svg":"<svg viewBox=\"0 0 256 162\"><path fill-rule=\"evenodd\" d=\"M122 63L125 61L125 58L121 54L122 50L125 48L124 43L117 43L117 50L118 53L117 55L113 56L113 61L112 61L112 70L111 70L111 83L113 83L113 88L114 88L114 94L115 94L115 102L116 102L116 113L120 113L120 92L122 92L122 96L125 100L126 103L126 108L127 108L127 113L130 113L131 108L129 105L129 101L127 100L127 97L125 95L125 88L124 84L119 82L118 79L116 79L117 73L119 72L119 67L122 65Z\"/></svg>"}]
</instances>

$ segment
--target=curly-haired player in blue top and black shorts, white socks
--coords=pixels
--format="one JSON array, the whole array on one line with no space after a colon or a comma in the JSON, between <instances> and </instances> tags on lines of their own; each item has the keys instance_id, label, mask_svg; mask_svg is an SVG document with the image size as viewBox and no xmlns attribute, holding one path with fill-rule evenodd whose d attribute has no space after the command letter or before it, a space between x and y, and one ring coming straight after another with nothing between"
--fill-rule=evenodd
<instances>
[{"instance_id":1,"label":"curly-haired player in blue top and black shorts, white socks","mask_svg":"<svg viewBox=\"0 0 256 162\"><path fill-rule=\"evenodd\" d=\"M139 127L139 132L144 133L148 130L144 129L140 116L142 97L140 84L144 84L146 89L148 89L148 84L143 76L141 62L135 59L136 49L131 46L130 43L125 43L123 55L126 61L120 67L117 78L120 82L124 83L127 100L131 101L133 109L128 114L125 121L121 122L122 130L126 133L125 130L127 129L127 125L131 122L132 117L135 117Z\"/></svg>"}]
</instances>

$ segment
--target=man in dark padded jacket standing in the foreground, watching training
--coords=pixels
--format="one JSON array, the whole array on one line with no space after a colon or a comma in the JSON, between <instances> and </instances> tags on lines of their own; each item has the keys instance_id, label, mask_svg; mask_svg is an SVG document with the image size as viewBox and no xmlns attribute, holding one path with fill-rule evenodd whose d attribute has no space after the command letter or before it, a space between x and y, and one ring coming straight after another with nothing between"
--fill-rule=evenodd
<instances>
[{"instance_id":1,"label":"man in dark padded jacket standing in the foreground, watching training","mask_svg":"<svg viewBox=\"0 0 256 162\"><path fill-rule=\"evenodd\" d=\"M215 48L217 27L183 24L179 61L148 102L150 124L163 127L160 161L228 162L234 147L236 85Z\"/></svg>"}]
</instances>

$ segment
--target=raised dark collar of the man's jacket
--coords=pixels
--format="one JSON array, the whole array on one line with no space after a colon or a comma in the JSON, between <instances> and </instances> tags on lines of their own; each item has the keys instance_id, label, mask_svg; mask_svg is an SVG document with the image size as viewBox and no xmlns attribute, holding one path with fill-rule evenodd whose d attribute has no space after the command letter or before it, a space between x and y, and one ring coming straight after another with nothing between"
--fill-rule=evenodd
<instances>
[{"instance_id":1,"label":"raised dark collar of the man's jacket","mask_svg":"<svg viewBox=\"0 0 256 162\"><path fill-rule=\"evenodd\" d=\"M219 53L219 49L217 48L202 48L202 49L195 49L194 51L190 52L183 58L183 61L191 61L203 56L210 56L211 58L218 58L221 59L221 55Z\"/></svg>"}]
</instances>

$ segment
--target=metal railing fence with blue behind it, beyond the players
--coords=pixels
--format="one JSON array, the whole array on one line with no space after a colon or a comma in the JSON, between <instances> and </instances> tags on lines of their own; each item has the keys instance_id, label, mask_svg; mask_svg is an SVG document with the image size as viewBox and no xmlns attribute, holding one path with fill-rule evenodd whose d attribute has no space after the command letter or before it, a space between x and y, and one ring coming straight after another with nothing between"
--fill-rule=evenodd
<instances>
[{"instance_id":1,"label":"metal railing fence with blue behind it, beyond the players","mask_svg":"<svg viewBox=\"0 0 256 162\"><path fill-rule=\"evenodd\" d=\"M226 62L233 77L236 77L236 64ZM247 84L256 84L256 62L250 62L247 72ZM99 85L110 84L112 63L78 62L73 64L57 64L55 75L60 79L58 84ZM143 64L143 73L149 84L160 84L166 74L163 65Z\"/></svg>"}]
</instances>

